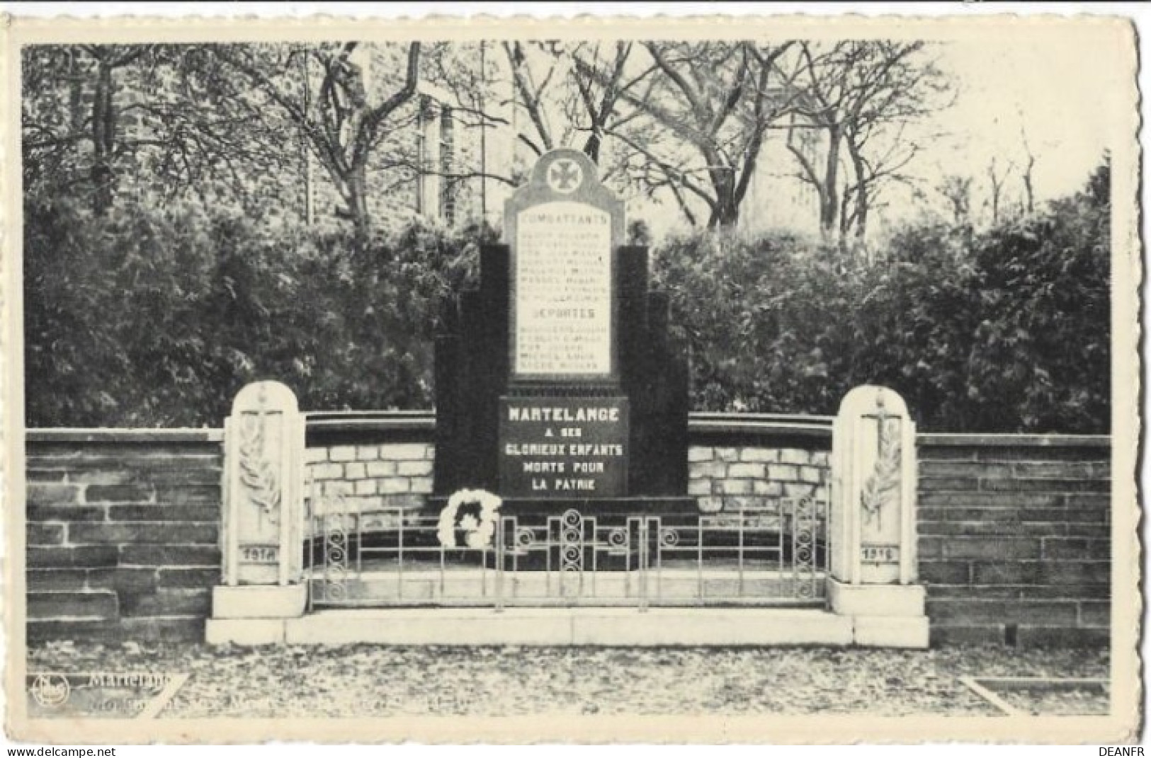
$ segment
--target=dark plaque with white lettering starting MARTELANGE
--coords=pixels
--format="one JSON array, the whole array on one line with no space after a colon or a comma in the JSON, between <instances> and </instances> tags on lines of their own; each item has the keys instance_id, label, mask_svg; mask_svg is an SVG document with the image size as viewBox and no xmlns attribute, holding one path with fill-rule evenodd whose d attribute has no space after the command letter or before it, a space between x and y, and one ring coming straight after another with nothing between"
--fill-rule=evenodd
<instances>
[{"instance_id":1,"label":"dark plaque with white lettering starting MARTELANGE","mask_svg":"<svg viewBox=\"0 0 1151 758\"><path fill-rule=\"evenodd\" d=\"M618 497L627 485L627 398L500 399L500 491Z\"/></svg>"}]
</instances>

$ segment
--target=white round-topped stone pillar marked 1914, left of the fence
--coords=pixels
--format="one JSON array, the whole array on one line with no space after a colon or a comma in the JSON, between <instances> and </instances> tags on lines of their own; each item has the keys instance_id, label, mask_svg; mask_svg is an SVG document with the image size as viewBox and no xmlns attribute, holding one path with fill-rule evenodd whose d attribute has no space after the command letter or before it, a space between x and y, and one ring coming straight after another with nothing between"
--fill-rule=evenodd
<instances>
[{"instance_id":1,"label":"white round-topped stone pillar marked 1914, left of the fence","mask_svg":"<svg viewBox=\"0 0 1151 758\"><path fill-rule=\"evenodd\" d=\"M304 613L304 416L279 382L239 391L224 422L223 584L208 642L283 640Z\"/></svg>"}]
</instances>

